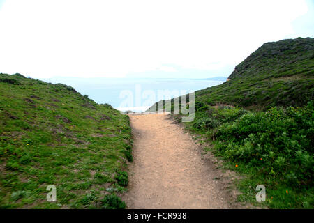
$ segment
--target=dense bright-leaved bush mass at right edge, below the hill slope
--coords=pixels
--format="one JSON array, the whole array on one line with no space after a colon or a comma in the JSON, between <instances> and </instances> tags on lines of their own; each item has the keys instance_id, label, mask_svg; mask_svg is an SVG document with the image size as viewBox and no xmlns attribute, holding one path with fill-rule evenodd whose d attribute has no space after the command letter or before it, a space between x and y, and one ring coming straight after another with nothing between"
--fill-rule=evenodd
<instances>
[{"instance_id":1,"label":"dense bright-leaved bush mass at right edge, below the hill slope","mask_svg":"<svg viewBox=\"0 0 314 223\"><path fill-rule=\"evenodd\" d=\"M274 107L244 114L217 129L216 150L248 167L263 167L263 174L285 185L313 186L313 104L304 108Z\"/></svg>"}]
</instances>

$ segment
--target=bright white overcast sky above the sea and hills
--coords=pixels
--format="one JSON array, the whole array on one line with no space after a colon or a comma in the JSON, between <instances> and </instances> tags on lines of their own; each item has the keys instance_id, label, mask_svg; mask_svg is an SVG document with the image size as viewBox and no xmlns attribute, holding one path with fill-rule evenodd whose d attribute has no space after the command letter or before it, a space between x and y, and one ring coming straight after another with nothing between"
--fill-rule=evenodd
<instances>
[{"instance_id":1,"label":"bright white overcast sky above the sea and hills","mask_svg":"<svg viewBox=\"0 0 314 223\"><path fill-rule=\"evenodd\" d=\"M0 0L0 72L230 75L262 43L314 36L313 1Z\"/></svg>"}]
</instances>

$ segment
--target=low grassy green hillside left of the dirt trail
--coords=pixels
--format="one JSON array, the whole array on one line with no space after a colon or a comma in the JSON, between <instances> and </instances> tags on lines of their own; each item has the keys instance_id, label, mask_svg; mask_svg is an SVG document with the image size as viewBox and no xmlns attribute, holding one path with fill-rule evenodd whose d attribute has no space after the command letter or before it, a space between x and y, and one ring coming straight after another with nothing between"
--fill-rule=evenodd
<instances>
[{"instance_id":1,"label":"low grassy green hillside left of the dirt trail","mask_svg":"<svg viewBox=\"0 0 314 223\"><path fill-rule=\"evenodd\" d=\"M64 84L0 74L0 208L124 208L128 116ZM47 185L57 202L47 202Z\"/></svg>"}]
</instances>

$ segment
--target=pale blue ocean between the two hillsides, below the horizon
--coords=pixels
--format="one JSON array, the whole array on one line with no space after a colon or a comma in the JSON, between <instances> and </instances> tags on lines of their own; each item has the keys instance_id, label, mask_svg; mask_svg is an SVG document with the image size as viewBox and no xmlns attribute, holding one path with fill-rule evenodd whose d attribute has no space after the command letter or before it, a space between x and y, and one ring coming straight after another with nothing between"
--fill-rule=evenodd
<instances>
[{"instance_id":1,"label":"pale blue ocean between the two hillsides, below the horizon","mask_svg":"<svg viewBox=\"0 0 314 223\"><path fill-rule=\"evenodd\" d=\"M82 95L88 95L97 103L107 103L121 111L132 110L134 112L144 112L159 100L168 100L224 82L209 79L75 77L53 77L42 80L73 86Z\"/></svg>"}]
</instances>

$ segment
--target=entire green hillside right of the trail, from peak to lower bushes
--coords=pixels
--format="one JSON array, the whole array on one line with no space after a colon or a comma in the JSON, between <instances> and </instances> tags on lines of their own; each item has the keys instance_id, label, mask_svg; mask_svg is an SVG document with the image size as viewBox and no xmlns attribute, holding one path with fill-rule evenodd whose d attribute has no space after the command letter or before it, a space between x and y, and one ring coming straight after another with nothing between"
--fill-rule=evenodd
<instances>
[{"instance_id":1,"label":"entire green hillside right of the trail, from peak to lower bushes","mask_svg":"<svg viewBox=\"0 0 314 223\"><path fill-rule=\"evenodd\" d=\"M257 205L262 184L267 200L259 205L313 208L314 39L265 43L228 79L195 92L186 128L206 139L225 168L246 176L237 182L239 201Z\"/></svg>"}]
</instances>

